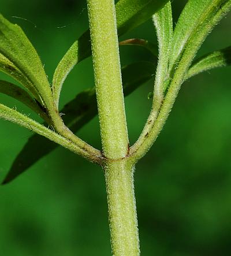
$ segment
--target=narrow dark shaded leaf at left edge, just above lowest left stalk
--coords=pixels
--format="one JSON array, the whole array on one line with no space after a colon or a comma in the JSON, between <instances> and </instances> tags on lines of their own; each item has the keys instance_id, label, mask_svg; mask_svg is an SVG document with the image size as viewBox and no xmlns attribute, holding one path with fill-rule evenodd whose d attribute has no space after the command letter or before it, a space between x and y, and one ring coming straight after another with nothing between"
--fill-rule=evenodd
<instances>
[{"instance_id":1,"label":"narrow dark shaded leaf at left edge, just above lowest left stalk","mask_svg":"<svg viewBox=\"0 0 231 256\"><path fill-rule=\"evenodd\" d=\"M19 86L9 83L8 81L0 80L0 92L9 95L10 97L13 97L14 99L17 99L17 101L24 103L35 113L39 114L39 116L43 118L44 116L46 116L46 114L42 111L42 109L35 102L35 100L31 98L31 95L29 95L27 91L23 90Z\"/></svg>"}]
</instances>

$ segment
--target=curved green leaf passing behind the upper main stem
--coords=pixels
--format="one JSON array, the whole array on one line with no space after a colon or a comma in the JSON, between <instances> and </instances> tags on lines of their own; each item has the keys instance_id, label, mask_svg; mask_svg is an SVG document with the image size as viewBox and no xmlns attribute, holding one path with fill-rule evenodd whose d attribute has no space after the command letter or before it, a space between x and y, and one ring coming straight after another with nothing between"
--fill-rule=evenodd
<instances>
[{"instance_id":1,"label":"curved green leaf passing behind the upper main stem","mask_svg":"<svg viewBox=\"0 0 231 256\"><path fill-rule=\"evenodd\" d=\"M116 4L118 36L148 20L167 0L120 0ZM52 88L55 105L58 108L59 95L66 76L74 65L91 55L90 31L86 31L72 44L54 72Z\"/></svg>"}]
</instances>

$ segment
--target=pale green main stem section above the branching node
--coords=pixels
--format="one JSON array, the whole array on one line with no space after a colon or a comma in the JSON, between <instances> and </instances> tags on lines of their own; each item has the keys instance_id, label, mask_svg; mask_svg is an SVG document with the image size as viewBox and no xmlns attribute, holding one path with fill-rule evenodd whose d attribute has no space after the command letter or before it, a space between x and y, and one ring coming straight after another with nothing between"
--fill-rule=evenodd
<instances>
[{"instance_id":1,"label":"pale green main stem section above the branching node","mask_svg":"<svg viewBox=\"0 0 231 256\"><path fill-rule=\"evenodd\" d=\"M113 0L87 0L103 154L128 153L124 95Z\"/></svg>"}]
</instances>

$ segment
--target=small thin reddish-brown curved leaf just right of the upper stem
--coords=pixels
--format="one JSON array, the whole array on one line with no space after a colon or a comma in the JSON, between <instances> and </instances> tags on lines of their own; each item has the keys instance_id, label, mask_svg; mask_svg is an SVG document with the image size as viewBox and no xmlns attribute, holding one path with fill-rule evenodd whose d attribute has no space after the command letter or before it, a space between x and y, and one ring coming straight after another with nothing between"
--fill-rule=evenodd
<instances>
[{"instance_id":1,"label":"small thin reddish-brown curved leaf just right of the upper stem","mask_svg":"<svg viewBox=\"0 0 231 256\"><path fill-rule=\"evenodd\" d=\"M158 56L157 44L154 44L148 40L140 39L140 38L132 38L132 39L126 39L119 43L119 46L126 46L126 45L135 45L135 46L144 47L148 51L150 51L152 53L152 55Z\"/></svg>"}]
</instances>

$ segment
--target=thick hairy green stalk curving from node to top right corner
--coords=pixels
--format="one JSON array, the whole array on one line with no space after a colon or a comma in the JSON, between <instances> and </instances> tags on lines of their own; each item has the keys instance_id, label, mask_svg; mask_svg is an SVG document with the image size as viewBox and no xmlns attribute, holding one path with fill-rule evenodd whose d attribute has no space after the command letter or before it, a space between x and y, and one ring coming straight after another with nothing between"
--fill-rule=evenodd
<instances>
[{"instance_id":1,"label":"thick hairy green stalk curving from node to top right corner","mask_svg":"<svg viewBox=\"0 0 231 256\"><path fill-rule=\"evenodd\" d=\"M189 0L191 1L191 0ZM192 0L193 1L193 0ZM196 1L196 0L195 0ZM161 107L157 115L154 115L155 120L152 119L147 122L139 139L130 148L130 154L134 161L138 161L157 139L159 132L165 125L167 117L172 110L173 104L176 100L181 84L184 82L184 78L193 58L198 52L200 46L204 42L206 36L211 32L215 25L229 12L231 8L231 0L210 0L211 5L204 10L203 15L200 17L199 23L195 29L191 32L187 46L182 53L179 64L176 66L176 70L173 72L173 76L170 77L170 84L167 87L165 98L161 104ZM220 8L222 4L222 9ZM151 115L150 115L151 116ZM149 126L148 126L149 124ZM148 136L148 140L146 139Z\"/></svg>"}]
</instances>

